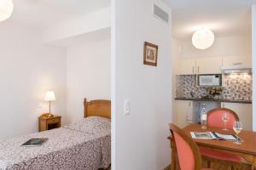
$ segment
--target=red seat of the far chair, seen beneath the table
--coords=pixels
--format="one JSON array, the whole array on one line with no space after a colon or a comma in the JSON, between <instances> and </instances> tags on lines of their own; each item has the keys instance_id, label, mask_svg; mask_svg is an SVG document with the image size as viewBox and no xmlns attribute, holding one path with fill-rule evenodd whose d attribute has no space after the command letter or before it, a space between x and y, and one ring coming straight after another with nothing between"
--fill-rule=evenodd
<instances>
[{"instance_id":1,"label":"red seat of the far chair, seen beneath the table","mask_svg":"<svg viewBox=\"0 0 256 170\"><path fill-rule=\"evenodd\" d=\"M210 150L206 148L199 148L201 151L201 156L207 156L213 159L218 159L221 161L232 161L235 163L241 163L242 158L241 156L236 156L234 154L222 152L222 151L217 151L217 150Z\"/></svg>"}]
</instances>

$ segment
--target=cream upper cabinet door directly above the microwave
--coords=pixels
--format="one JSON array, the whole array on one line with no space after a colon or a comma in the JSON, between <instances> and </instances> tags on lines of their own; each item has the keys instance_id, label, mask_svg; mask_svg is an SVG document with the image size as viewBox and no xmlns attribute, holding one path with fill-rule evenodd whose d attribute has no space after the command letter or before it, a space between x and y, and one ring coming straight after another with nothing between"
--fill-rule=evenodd
<instances>
[{"instance_id":1,"label":"cream upper cabinet door directly above the microwave","mask_svg":"<svg viewBox=\"0 0 256 170\"><path fill-rule=\"evenodd\" d=\"M196 59L197 74L221 74L221 67L221 57Z\"/></svg>"}]
</instances>

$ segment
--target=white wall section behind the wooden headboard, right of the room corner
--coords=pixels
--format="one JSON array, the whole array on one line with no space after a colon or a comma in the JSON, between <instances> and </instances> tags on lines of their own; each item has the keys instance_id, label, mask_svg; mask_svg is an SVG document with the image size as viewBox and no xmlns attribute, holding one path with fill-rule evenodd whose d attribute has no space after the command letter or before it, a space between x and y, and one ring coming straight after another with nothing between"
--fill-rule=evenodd
<instances>
[{"instance_id":1,"label":"white wall section behind the wooden headboard, right of the room corner","mask_svg":"<svg viewBox=\"0 0 256 170\"><path fill-rule=\"evenodd\" d=\"M110 99L110 37L67 48L68 122L84 117L84 97Z\"/></svg>"}]
</instances>

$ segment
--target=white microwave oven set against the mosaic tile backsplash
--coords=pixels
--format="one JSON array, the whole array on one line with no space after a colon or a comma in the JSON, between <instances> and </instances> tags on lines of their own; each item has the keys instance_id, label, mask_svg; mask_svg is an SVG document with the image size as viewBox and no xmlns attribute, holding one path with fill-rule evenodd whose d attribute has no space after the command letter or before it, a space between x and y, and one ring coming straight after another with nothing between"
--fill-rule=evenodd
<instances>
[{"instance_id":1,"label":"white microwave oven set against the mosaic tile backsplash","mask_svg":"<svg viewBox=\"0 0 256 170\"><path fill-rule=\"evenodd\" d=\"M222 78L220 74L217 75L198 75L198 86L221 86Z\"/></svg>"}]
</instances>

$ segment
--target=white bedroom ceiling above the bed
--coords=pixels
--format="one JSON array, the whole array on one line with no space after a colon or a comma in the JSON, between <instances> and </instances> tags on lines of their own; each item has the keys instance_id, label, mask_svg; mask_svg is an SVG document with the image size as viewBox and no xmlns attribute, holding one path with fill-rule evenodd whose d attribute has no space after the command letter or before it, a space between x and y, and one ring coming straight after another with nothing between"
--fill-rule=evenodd
<instances>
[{"instance_id":1,"label":"white bedroom ceiling above the bed","mask_svg":"<svg viewBox=\"0 0 256 170\"><path fill-rule=\"evenodd\" d=\"M110 0L13 0L8 22L45 29L56 22L110 6Z\"/></svg>"}]
</instances>

